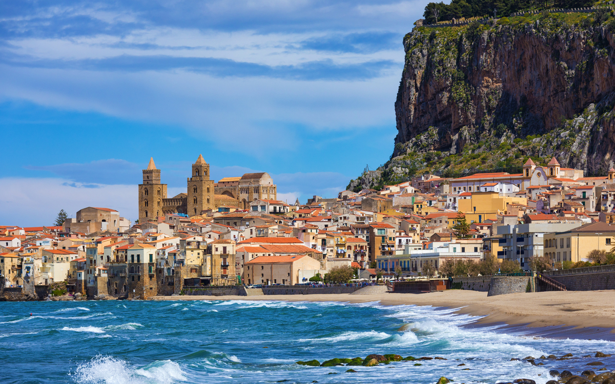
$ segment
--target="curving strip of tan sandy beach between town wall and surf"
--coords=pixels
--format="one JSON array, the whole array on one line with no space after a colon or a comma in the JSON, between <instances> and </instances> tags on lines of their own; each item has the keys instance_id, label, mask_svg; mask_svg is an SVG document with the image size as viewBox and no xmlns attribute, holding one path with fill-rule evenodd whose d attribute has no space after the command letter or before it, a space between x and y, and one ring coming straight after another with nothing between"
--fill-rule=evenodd
<instances>
[{"instance_id":1,"label":"curving strip of tan sandy beach between town wall and surf","mask_svg":"<svg viewBox=\"0 0 615 384\"><path fill-rule=\"evenodd\" d=\"M383 305L431 305L459 308L458 313L485 316L478 323L527 324L531 327L600 327L615 333L615 291L517 293L487 297L486 292L450 290L424 294L336 294L271 296L164 296L156 300L335 301Z\"/></svg>"}]
</instances>

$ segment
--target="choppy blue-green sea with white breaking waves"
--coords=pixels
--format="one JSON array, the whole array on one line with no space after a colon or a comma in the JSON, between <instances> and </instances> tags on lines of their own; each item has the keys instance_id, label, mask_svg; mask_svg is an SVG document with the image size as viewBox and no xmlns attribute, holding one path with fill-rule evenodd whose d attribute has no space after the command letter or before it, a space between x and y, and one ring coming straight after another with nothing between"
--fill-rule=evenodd
<instances>
[{"instance_id":1,"label":"choppy blue-green sea with white breaking waves","mask_svg":"<svg viewBox=\"0 0 615 384\"><path fill-rule=\"evenodd\" d=\"M544 384L551 369L615 369L615 358L593 358L615 355L605 330L479 319L453 308L379 302L0 302L0 383L436 383L444 376ZM295 364L388 353L443 359ZM530 356L537 365L523 361ZM593 361L604 365L587 366Z\"/></svg>"}]
</instances>

